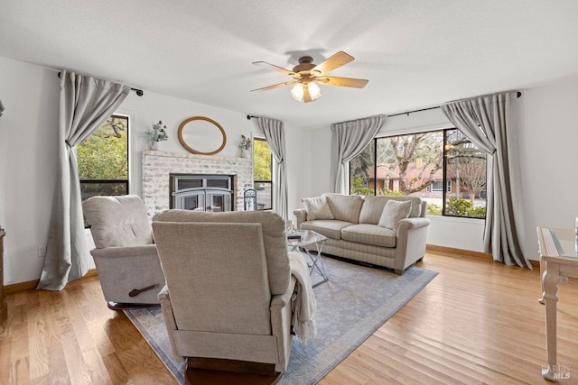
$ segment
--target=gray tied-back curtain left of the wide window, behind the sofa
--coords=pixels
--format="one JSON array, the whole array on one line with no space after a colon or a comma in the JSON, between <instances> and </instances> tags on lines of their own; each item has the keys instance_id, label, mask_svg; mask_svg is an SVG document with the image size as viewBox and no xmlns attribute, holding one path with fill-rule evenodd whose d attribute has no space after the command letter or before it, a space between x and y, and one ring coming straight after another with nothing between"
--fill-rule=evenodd
<instances>
[{"instance_id":1,"label":"gray tied-back curtain left of the wide window, behind the sofa","mask_svg":"<svg viewBox=\"0 0 578 385\"><path fill-rule=\"evenodd\" d=\"M386 123L386 115L331 124L331 188L347 194L347 163L359 155Z\"/></svg>"}]
</instances>

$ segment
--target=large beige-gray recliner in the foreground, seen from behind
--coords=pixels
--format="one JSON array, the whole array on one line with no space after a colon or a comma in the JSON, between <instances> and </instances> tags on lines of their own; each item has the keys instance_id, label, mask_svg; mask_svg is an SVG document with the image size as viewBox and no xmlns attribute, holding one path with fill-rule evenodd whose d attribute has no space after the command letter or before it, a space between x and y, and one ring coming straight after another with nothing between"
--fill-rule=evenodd
<instances>
[{"instance_id":1,"label":"large beige-gray recliner in the foreground, seen from behind","mask_svg":"<svg viewBox=\"0 0 578 385\"><path fill-rule=\"evenodd\" d=\"M172 350L189 368L279 375L292 343L284 221L272 212L154 216ZM276 374L275 374L276 373Z\"/></svg>"}]
</instances>

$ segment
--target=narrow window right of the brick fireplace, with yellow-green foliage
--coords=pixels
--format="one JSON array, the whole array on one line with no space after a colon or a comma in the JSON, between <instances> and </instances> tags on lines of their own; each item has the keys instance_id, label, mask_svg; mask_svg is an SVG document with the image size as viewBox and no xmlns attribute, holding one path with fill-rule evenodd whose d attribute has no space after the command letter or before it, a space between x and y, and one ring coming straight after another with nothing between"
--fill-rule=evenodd
<instances>
[{"instance_id":1,"label":"narrow window right of the brick fireplace, with yellow-green foliage","mask_svg":"<svg viewBox=\"0 0 578 385\"><path fill-rule=\"evenodd\" d=\"M253 186L257 210L273 208L273 155L265 139L253 140Z\"/></svg>"}]
</instances>

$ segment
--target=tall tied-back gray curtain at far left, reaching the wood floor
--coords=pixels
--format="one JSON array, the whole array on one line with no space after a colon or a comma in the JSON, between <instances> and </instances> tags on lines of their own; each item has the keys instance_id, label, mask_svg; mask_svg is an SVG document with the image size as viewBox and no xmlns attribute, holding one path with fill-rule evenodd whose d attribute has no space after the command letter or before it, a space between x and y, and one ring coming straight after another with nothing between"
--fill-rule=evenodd
<instances>
[{"instance_id":1,"label":"tall tied-back gray curtain at far left, reaching the wood floor","mask_svg":"<svg viewBox=\"0 0 578 385\"><path fill-rule=\"evenodd\" d=\"M129 91L127 86L61 71L58 177L46 257L36 289L63 289L89 270L74 148L107 121Z\"/></svg>"}]
</instances>

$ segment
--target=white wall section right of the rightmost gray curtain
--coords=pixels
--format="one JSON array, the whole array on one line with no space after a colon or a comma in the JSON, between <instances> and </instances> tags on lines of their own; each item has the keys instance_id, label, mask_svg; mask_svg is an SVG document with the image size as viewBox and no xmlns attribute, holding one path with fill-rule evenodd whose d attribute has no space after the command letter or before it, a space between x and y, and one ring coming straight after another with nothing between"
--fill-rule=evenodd
<instances>
[{"instance_id":1,"label":"white wall section right of the rightmost gray curtain","mask_svg":"<svg viewBox=\"0 0 578 385\"><path fill-rule=\"evenodd\" d=\"M521 100L523 246L537 259L536 226L573 228L578 216L578 77L522 90Z\"/></svg>"}]
</instances>

